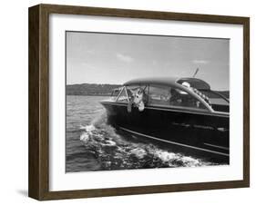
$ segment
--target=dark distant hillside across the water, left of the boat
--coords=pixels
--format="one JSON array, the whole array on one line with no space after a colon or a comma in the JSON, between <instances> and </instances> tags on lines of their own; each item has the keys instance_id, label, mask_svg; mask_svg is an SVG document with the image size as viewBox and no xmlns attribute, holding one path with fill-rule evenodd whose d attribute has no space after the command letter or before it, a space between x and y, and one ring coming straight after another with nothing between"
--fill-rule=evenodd
<instances>
[{"instance_id":1,"label":"dark distant hillside across the water, left of the boat","mask_svg":"<svg viewBox=\"0 0 256 205\"><path fill-rule=\"evenodd\" d=\"M112 90L118 88L119 84L71 84L67 85L67 95L110 95Z\"/></svg>"}]
</instances>

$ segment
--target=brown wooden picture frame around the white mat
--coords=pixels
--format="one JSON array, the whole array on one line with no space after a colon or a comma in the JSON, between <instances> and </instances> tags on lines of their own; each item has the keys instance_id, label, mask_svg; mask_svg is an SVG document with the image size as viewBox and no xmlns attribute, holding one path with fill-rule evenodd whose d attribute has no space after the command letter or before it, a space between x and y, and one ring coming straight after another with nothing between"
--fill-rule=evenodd
<instances>
[{"instance_id":1,"label":"brown wooden picture frame around the white mat","mask_svg":"<svg viewBox=\"0 0 256 205\"><path fill-rule=\"evenodd\" d=\"M49 15L99 15L176 20L243 26L243 180L163 184L93 190L49 190ZM28 195L36 200L59 200L146 194L184 190L213 190L250 186L250 19L223 15L192 15L69 5L29 8L29 181Z\"/></svg>"}]
</instances>

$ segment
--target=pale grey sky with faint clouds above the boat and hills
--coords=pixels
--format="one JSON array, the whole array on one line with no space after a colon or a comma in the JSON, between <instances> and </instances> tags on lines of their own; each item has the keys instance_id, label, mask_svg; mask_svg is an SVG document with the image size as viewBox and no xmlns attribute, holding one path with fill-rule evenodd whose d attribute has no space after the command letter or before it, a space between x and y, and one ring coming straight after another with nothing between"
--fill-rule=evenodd
<instances>
[{"instance_id":1,"label":"pale grey sky with faint clouds above the boat and hills","mask_svg":"<svg viewBox=\"0 0 256 205\"><path fill-rule=\"evenodd\" d=\"M67 84L140 77L196 77L229 90L228 39L67 32Z\"/></svg>"}]
</instances>

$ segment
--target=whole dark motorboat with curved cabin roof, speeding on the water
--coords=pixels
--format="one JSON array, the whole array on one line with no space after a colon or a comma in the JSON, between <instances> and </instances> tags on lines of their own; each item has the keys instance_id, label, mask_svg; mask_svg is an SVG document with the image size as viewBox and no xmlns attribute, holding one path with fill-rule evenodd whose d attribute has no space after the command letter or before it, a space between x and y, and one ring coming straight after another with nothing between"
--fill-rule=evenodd
<instances>
[{"instance_id":1,"label":"whole dark motorboat with curved cabin roof, speeding on the water","mask_svg":"<svg viewBox=\"0 0 256 205\"><path fill-rule=\"evenodd\" d=\"M229 96L198 78L130 80L101 104L118 131L212 161L230 160Z\"/></svg>"}]
</instances>

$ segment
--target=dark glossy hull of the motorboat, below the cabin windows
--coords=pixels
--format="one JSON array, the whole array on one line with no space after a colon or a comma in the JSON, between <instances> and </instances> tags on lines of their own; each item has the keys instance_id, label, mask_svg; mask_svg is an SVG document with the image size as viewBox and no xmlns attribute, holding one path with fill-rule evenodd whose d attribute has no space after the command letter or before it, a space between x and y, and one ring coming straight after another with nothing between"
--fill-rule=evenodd
<instances>
[{"instance_id":1,"label":"dark glossy hull of the motorboat, below the cabin windows","mask_svg":"<svg viewBox=\"0 0 256 205\"><path fill-rule=\"evenodd\" d=\"M175 151L210 161L230 161L228 115L159 106L128 112L127 103L101 103L108 112L108 123L120 132L165 143Z\"/></svg>"}]
</instances>

